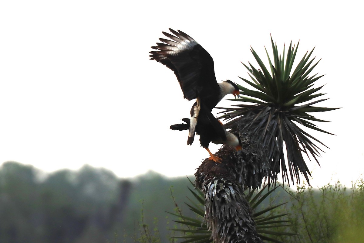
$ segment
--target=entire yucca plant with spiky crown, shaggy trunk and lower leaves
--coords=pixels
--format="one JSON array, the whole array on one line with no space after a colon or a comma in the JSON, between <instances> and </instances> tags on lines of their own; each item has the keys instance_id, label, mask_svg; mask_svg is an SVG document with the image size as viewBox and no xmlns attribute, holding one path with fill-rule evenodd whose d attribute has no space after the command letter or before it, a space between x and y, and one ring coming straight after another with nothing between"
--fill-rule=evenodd
<instances>
[{"instance_id":1,"label":"entire yucca plant with spiky crown, shaggy trunk and lower leaves","mask_svg":"<svg viewBox=\"0 0 364 243\"><path fill-rule=\"evenodd\" d=\"M198 167L195 186L201 189L202 194L190 191L204 208L192 201L188 205L203 220L201 217L192 219L175 214L182 219L179 223L190 226L189 229L179 230L185 233L178 236L185 239L183 243L280 242L272 235L293 235L269 230L271 226L286 226L285 220L279 220L284 214L263 216L280 205L260 212L257 212L257 206L265 195L276 189L274 186L264 194L267 185L269 188L269 185L276 184L280 172L283 182L298 181L300 174L303 174L309 183L310 172L303 154L318 163L317 157L323 150L317 144L325 145L306 130L309 128L332 134L317 128L313 122L325 121L317 119L312 113L338 108L314 106L326 99L316 99L324 95L318 93L323 86L315 88L313 85L323 75L310 74L318 63L313 62L314 58L310 59L313 50L306 52L293 69L299 42L297 47L292 47L291 42L287 53L283 48L282 55L278 54L272 37L271 42L272 59L265 50L268 68L253 48L252 54L260 68L255 68L251 63L249 66L244 64L252 81L241 79L256 90L238 85L241 98L233 100L239 104L222 108L224 114L221 118L228 121L225 128L239 134L242 153L236 154L235 150L225 146L215 154L222 158L222 163L206 159ZM266 178L268 184L253 196L254 190L260 188ZM252 192L244 196L243 188L252 189Z\"/></svg>"}]
</instances>

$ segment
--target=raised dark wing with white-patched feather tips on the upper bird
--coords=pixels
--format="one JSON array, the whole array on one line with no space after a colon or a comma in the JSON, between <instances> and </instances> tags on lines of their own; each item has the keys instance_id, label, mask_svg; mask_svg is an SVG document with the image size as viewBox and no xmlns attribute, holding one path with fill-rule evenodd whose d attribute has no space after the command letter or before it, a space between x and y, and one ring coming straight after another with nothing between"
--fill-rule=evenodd
<instances>
[{"instance_id":1,"label":"raised dark wing with white-patched feather tips on the upper bird","mask_svg":"<svg viewBox=\"0 0 364 243\"><path fill-rule=\"evenodd\" d=\"M151 48L150 59L174 71L183 97L192 100L198 93L217 95L219 87L215 77L214 61L210 54L186 33L169 28L172 34L162 32L169 39Z\"/></svg>"}]
</instances>

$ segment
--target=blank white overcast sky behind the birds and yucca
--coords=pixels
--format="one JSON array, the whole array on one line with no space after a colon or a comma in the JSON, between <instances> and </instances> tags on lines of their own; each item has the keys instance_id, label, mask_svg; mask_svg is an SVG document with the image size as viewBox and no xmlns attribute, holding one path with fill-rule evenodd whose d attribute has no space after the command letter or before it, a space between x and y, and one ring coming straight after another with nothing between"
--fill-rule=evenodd
<instances>
[{"instance_id":1,"label":"blank white overcast sky behind the birds and yucca","mask_svg":"<svg viewBox=\"0 0 364 243\"><path fill-rule=\"evenodd\" d=\"M317 133L331 149L321 168L308 166L313 183L349 185L364 172L361 10L356 1L1 1L0 163L44 171L90 164L120 177L193 174L208 153L169 129L193 102L171 70L149 60L171 27L211 54L218 80L244 86L240 62L255 63L250 46L266 60L270 34L281 51L300 40L298 59L316 46L322 60L313 73L326 74L316 87L326 83L330 98L320 105L343 109L316 114L337 136Z\"/></svg>"}]
</instances>

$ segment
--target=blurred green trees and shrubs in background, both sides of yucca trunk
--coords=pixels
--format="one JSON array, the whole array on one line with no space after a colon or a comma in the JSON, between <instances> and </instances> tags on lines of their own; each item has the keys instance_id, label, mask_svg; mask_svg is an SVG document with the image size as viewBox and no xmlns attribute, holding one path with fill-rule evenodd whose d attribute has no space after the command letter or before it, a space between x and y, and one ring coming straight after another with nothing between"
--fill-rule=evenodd
<instances>
[{"instance_id":1,"label":"blurred green trees and shrubs in background, both sides of yucca trunk","mask_svg":"<svg viewBox=\"0 0 364 243\"><path fill-rule=\"evenodd\" d=\"M189 177L192 181L194 177ZM171 188L171 186L173 186ZM186 206L186 177L155 172L130 180L85 165L45 174L33 166L5 162L0 167L0 243L178 242L178 228L166 211L196 217ZM288 202L270 213L286 214L289 227L276 230L282 242L345 243L364 240L364 181L346 188L337 182L314 189L305 184L277 188L261 204ZM274 227L274 225L272 225Z\"/></svg>"}]
</instances>

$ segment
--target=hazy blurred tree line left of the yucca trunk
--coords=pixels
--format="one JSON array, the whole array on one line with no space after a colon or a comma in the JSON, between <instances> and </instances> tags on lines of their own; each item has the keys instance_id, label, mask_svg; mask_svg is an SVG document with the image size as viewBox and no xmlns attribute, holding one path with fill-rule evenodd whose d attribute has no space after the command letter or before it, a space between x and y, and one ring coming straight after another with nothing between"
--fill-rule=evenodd
<instances>
[{"instance_id":1,"label":"hazy blurred tree line left of the yucca trunk","mask_svg":"<svg viewBox=\"0 0 364 243\"><path fill-rule=\"evenodd\" d=\"M5 162L0 167L0 242L114 242L115 234L121 242L124 235L138 235L142 221L167 235L165 211L176 207L171 186L182 209L186 185L185 177L172 180L155 172L125 180L85 165L46 175L33 166Z\"/></svg>"}]
</instances>

